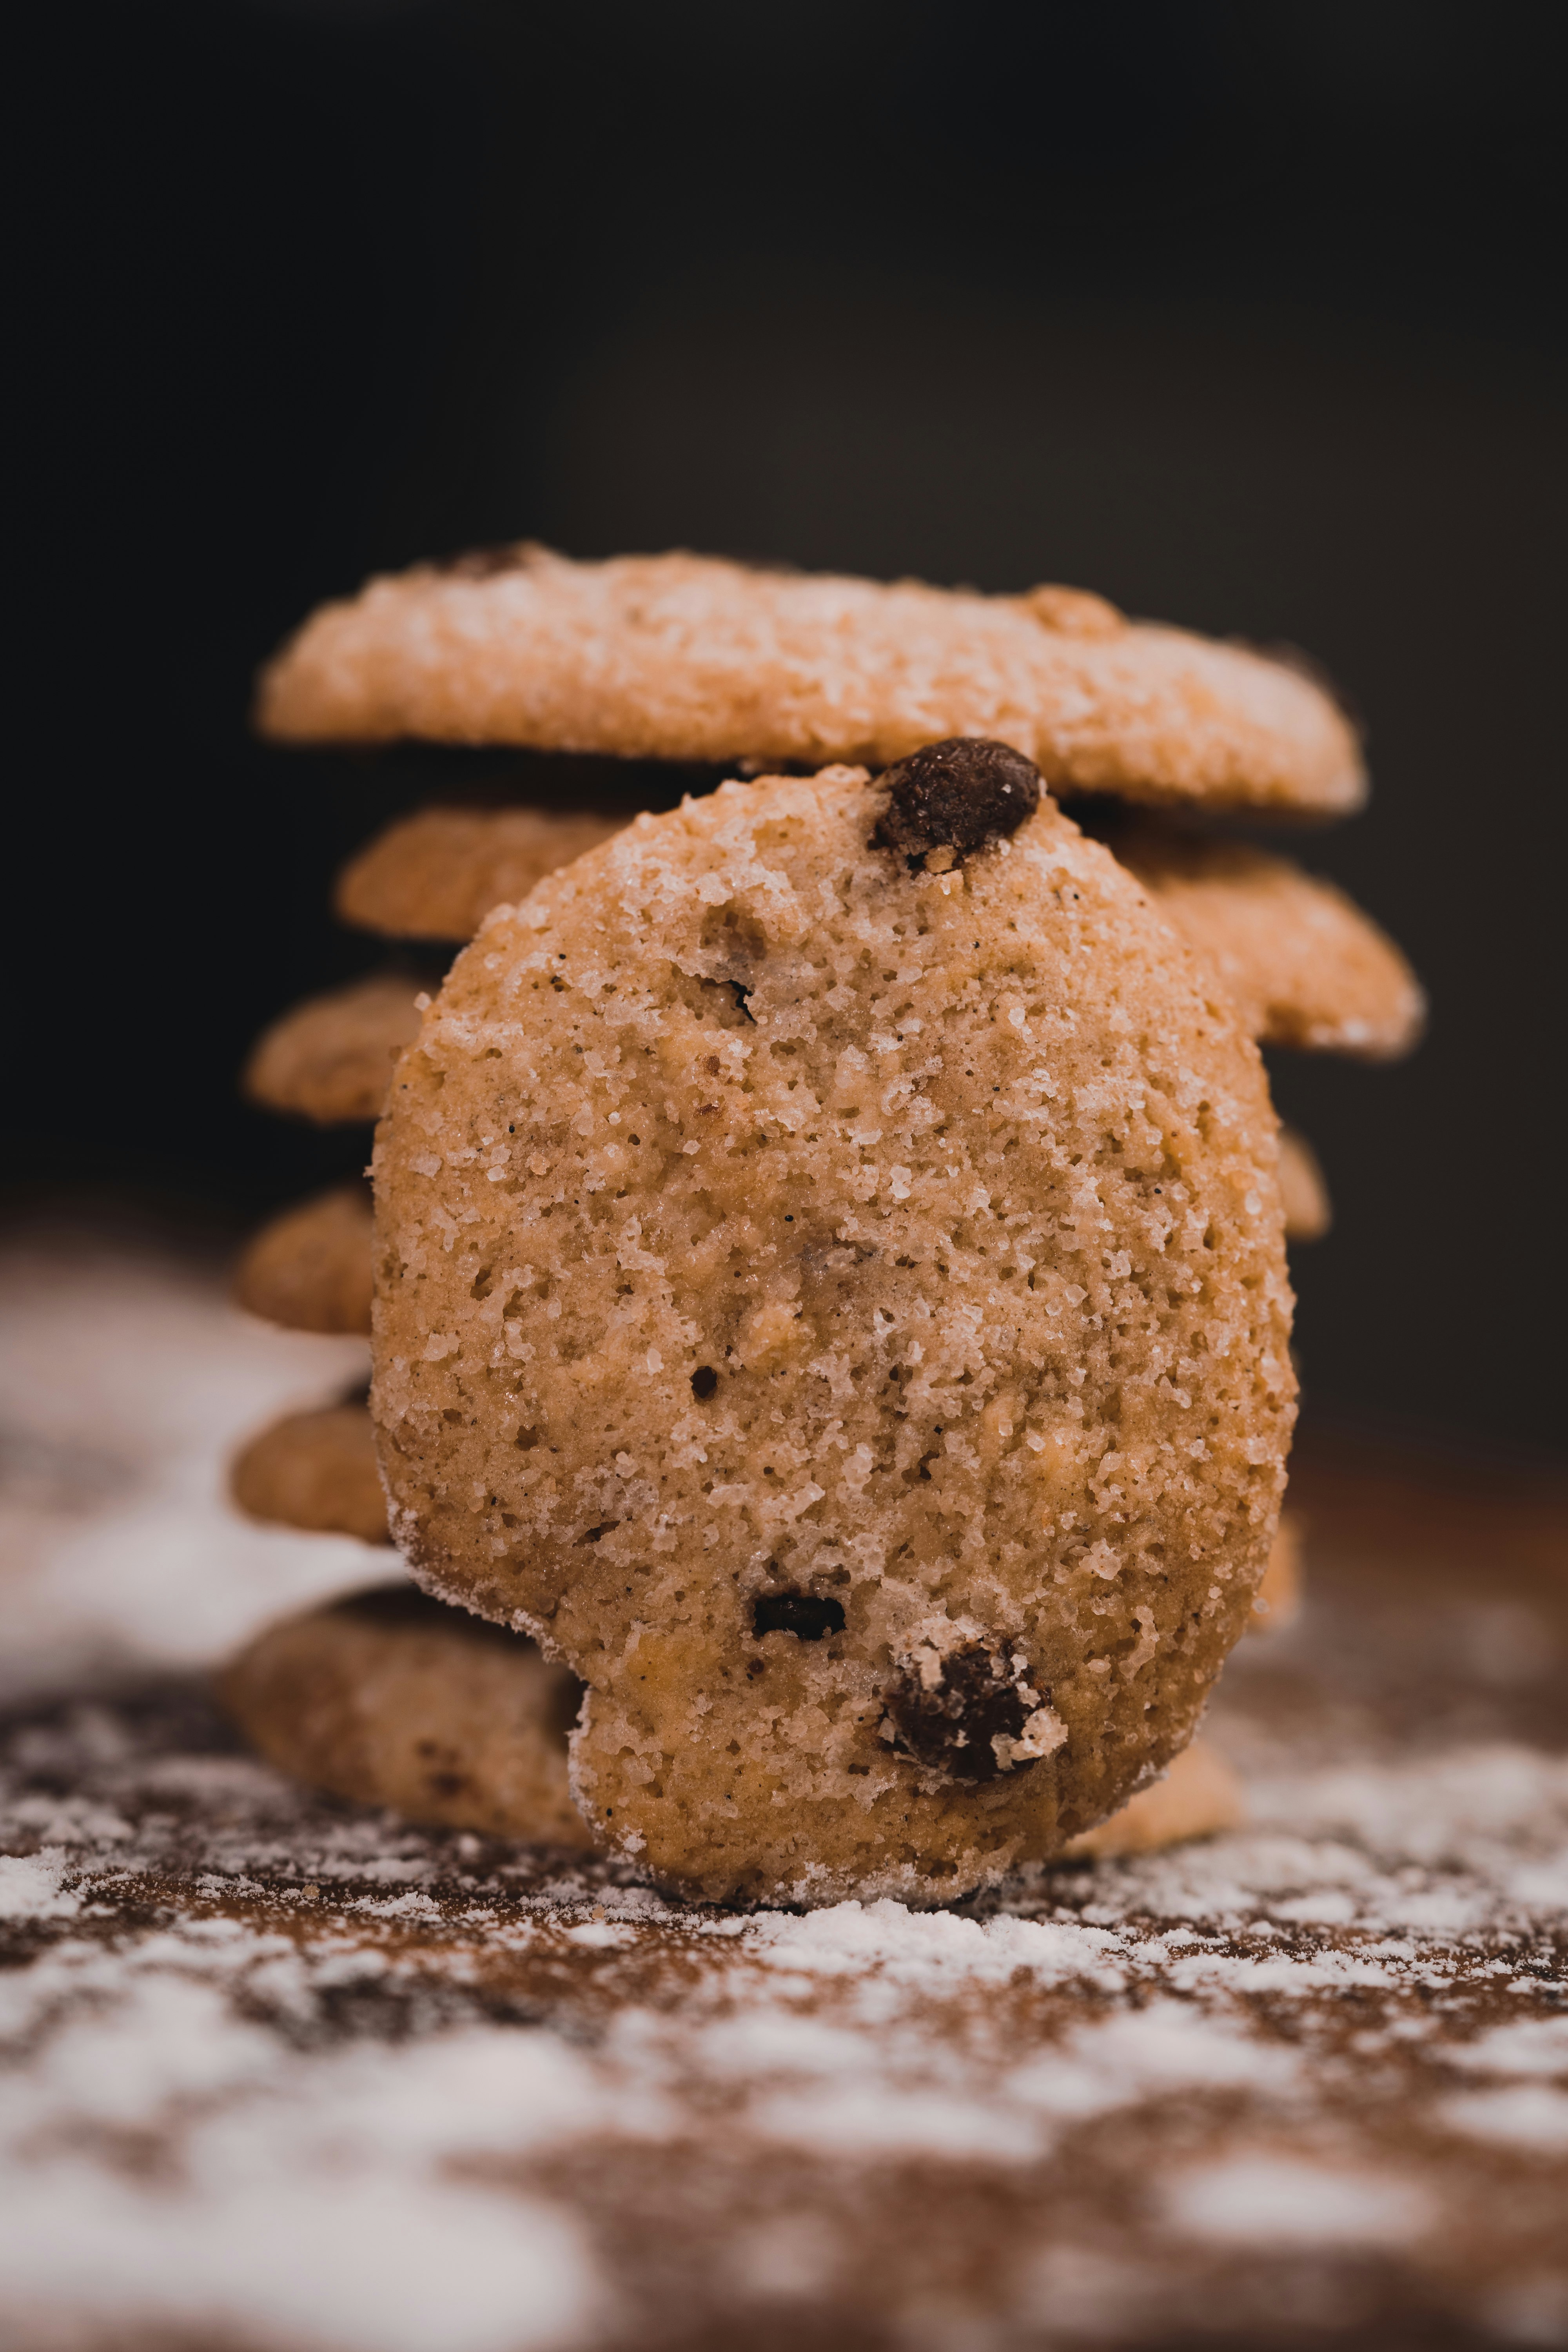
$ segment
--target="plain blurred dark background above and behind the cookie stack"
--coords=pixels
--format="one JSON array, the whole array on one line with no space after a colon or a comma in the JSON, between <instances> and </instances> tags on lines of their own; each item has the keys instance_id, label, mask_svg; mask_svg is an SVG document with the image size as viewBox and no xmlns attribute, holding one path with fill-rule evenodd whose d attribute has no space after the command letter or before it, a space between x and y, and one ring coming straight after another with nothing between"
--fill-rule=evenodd
<instances>
[{"instance_id":1,"label":"plain blurred dark background above and behind the cookie stack","mask_svg":"<svg viewBox=\"0 0 1568 2352\"><path fill-rule=\"evenodd\" d=\"M1563 12L56 0L12 31L7 1174L242 1221L357 1141L233 1096L374 960L334 861L449 767L280 755L254 663L531 532L1018 588L1321 656L1413 953L1279 1065L1324 1414L1561 1432ZM484 762L480 762L484 764Z\"/></svg>"}]
</instances>

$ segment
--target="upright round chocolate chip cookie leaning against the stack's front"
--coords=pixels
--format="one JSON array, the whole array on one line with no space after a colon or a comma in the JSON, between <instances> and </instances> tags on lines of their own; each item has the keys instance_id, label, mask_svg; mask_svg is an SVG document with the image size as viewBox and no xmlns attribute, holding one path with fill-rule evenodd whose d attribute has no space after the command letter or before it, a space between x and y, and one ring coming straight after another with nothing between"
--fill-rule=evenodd
<instances>
[{"instance_id":1,"label":"upright round chocolate chip cookie leaning against the stack's front","mask_svg":"<svg viewBox=\"0 0 1568 2352\"><path fill-rule=\"evenodd\" d=\"M489 915L397 1065L397 1541L588 1684L583 1818L693 1893L1060 1851L1185 1745L1262 1576L1262 1065L1032 797L957 743L642 816Z\"/></svg>"}]
</instances>

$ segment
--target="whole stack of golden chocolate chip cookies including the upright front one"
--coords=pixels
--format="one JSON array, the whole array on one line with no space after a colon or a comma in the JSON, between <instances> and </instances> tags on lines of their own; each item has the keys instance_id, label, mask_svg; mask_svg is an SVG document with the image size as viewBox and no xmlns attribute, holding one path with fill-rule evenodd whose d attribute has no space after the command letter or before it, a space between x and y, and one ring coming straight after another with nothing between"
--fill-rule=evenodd
<instances>
[{"instance_id":1,"label":"whole stack of golden chocolate chip cookies including the upright front one","mask_svg":"<svg viewBox=\"0 0 1568 2352\"><path fill-rule=\"evenodd\" d=\"M1324 689L1065 588L524 546L320 612L261 727L733 781L430 809L339 880L477 938L252 1058L277 1110L386 1105L374 1284L360 1192L240 1275L322 1331L376 1289L378 1432L280 1423L235 1491L386 1541L378 1442L433 1597L261 1637L254 1738L715 1898L929 1903L1227 1818L1190 1740L1288 1602L1281 1237L1328 1221L1258 1044L1422 1018L1366 915L1215 830L1359 807Z\"/></svg>"}]
</instances>

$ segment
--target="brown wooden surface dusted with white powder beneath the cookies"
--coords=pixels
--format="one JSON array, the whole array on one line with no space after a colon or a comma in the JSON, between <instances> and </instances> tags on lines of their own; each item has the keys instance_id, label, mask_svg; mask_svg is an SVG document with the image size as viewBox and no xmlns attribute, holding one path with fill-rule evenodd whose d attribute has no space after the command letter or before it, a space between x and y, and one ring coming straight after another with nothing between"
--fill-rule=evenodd
<instances>
[{"instance_id":1,"label":"brown wooden surface dusted with white powder beneath the cookies","mask_svg":"<svg viewBox=\"0 0 1568 2352\"><path fill-rule=\"evenodd\" d=\"M235 1345L176 1291L181 1348ZM205 1550L169 1548L155 1611L108 1541L28 1552L28 1623L68 1642L0 1726L0 2279L42 2340L1011 2352L1255 2340L1288 2291L1331 2333L1568 2343L1568 1764L1512 1684L1436 1668L1458 1731L1396 1736L1432 1578L1378 1651L1326 1555L1302 1635L1239 1661L1246 1830L945 1912L733 1915L242 1755L160 1628L197 1576L233 1573L230 1618L268 1576L214 1534L212 1456L176 1486Z\"/></svg>"}]
</instances>

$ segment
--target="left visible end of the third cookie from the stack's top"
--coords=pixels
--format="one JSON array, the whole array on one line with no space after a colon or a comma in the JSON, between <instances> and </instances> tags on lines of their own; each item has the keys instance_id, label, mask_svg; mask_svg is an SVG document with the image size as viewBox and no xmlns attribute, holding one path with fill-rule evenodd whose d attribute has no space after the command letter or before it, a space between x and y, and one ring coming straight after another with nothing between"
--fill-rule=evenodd
<instances>
[{"instance_id":1,"label":"left visible end of the third cookie from the stack's top","mask_svg":"<svg viewBox=\"0 0 1568 2352\"><path fill-rule=\"evenodd\" d=\"M402 971L306 997L263 1033L242 1089L263 1110L317 1127L374 1120L397 1054L418 1035L421 983Z\"/></svg>"}]
</instances>

